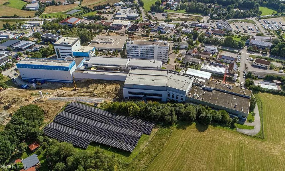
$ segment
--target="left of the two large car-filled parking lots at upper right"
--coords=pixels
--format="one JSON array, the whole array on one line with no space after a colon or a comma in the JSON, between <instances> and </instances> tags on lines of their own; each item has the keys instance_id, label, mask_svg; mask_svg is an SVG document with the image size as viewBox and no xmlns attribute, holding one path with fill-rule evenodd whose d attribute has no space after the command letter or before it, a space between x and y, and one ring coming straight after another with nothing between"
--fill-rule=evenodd
<instances>
[{"instance_id":1,"label":"left of the two large car-filled parking lots at upper right","mask_svg":"<svg viewBox=\"0 0 285 171\"><path fill-rule=\"evenodd\" d=\"M260 28L253 23L242 22L242 21L234 21L231 23L231 27L233 30L236 30L239 33L248 34L251 36L255 36L260 32Z\"/></svg>"}]
</instances>

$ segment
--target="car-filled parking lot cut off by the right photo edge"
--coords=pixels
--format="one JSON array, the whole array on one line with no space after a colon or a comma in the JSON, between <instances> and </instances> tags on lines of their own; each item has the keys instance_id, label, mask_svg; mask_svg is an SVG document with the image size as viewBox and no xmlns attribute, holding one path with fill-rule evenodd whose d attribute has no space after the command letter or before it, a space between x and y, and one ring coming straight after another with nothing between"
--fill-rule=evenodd
<instances>
[{"instance_id":1,"label":"car-filled parking lot cut off by the right photo edge","mask_svg":"<svg viewBox=\"0 0 285 171\"><path fill-rule=\"evenodd\" d=\"M271 30L279 30L285 28L285 22L282 20L282 18L271 18L271 19L263 19L258 20L259 23L261 23L262 27L266 30L267 28Z\"/></svg>"}]
</instances>

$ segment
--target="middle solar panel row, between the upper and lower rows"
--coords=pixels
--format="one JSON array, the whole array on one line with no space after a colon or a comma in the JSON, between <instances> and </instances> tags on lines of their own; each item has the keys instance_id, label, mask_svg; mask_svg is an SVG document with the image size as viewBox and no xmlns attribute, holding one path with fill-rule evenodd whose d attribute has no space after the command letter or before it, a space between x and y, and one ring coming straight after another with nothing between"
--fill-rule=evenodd
<instances>
[{"instance_id":1,"label":"middle solar panel row, between the upper and lower rows","mask_svg":"<svg viewBox=\"0 0 285 171\"><path fill-rule=\"evenodd\" d=\"M61 113L59 113L55 117L54 122L90 134L113 139L116 141L121 141L132 145L137 145L141 135L143 134L138 131L133 131L130 129L125 129L113 125L108 125L106 123L94 121L92 119L88 119L66 111L62 111Z\"/></svg>"}]
</instances>

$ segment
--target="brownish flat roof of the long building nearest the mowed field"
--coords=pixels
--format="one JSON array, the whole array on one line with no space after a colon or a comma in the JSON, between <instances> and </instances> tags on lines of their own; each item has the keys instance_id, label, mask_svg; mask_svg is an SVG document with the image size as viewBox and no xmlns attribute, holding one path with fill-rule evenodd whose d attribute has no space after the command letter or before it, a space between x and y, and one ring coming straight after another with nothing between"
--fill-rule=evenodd
<instances>
[{"instance_id":1,"label":"brownish flat roof of the long building nearest the mowed field","mask_svg":"<svg viewBox=\"0 0 285 171\"><path fill-rule=\"evenodd\" d=\"M237 111L242 111L241 107L243 107L243 112L248 113L247 108L249 107L249 102L250 102L249 98L241 97L241 96L230 94L230 93L225 93L225 92L218 91L218 90L213 90L212 92L205 91L203 89L201 90L201 88L202 87L198 85L192 86L191 90L188 93L188 96L190 95L190 97L193 97L194 94L196 93L196 95L199 95L198 100L212 103L215 105L219 105L225 108L237 110ZM236 89L236 88L237 87L234 87L233 89ZM236 103L237 105L235 107Z\"/></svg>"}]
</instances>

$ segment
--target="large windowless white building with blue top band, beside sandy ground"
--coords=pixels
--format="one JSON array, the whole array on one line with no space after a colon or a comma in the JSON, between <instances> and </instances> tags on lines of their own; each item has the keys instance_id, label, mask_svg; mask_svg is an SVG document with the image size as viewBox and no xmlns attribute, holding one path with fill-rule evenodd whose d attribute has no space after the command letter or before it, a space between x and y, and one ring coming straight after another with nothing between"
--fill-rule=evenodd
<instances>
[{"instance_id":1,"label":"large windowless white building with blue top band, beside sandy ground","mask_svg":"<svg viewBox=\"0 0 285 171\"><path fill-rule=\"evenodd\" d=\"M23 80L35 78L49 82L72 83L72 72L76 69L74 60L24 58L16 64Z\"/></svg>"}]
</instances>

